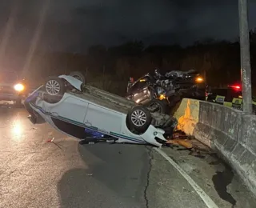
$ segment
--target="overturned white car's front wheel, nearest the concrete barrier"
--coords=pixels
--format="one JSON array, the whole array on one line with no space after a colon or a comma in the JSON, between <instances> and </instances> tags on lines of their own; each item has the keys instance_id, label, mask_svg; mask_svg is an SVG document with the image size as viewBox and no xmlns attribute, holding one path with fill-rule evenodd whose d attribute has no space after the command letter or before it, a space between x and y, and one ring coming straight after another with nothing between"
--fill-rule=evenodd
<instances>
[{"instance_id":1,"label":"overturned white car's front wheel, nearest the concrete barrier","mask_svg":"<svg viewBox=\"0 0 256 208\"><path fill-rule=\"evenodd\" d=\"M134 129L139 134L143 134L152 121L150 110L145 106L134 106L127 114L127 121L130 129Z\"/></svg>"}]
</instances>

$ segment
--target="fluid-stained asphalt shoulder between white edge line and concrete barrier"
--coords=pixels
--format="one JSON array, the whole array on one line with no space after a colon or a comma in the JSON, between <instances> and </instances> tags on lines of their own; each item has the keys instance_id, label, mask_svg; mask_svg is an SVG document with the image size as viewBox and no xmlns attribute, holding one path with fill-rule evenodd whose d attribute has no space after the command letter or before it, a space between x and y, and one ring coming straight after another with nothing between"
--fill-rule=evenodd
<instances>
[{"instance_id":1,"label":"fluid-stained asphalt shoulder between white edge line and concrete barrier","mask_svg":"<svg viewBox=\"0 0 256 208\"><path fill-rule=\"evenodd\" d=\"M234 171L212 150L196 140L191 141L197 147L195 150L174 146L164 151L201 186L218 207L256 207L255 197Z\"/></svg>"}]
</instances>

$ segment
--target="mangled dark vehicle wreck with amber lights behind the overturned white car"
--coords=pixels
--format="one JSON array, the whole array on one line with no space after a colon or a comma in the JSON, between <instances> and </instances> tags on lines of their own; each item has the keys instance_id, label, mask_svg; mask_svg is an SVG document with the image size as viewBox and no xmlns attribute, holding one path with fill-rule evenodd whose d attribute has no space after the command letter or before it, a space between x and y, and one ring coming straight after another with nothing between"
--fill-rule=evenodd
<instances>
[{"instance_id":1,"label":"mangled dark vehicle wreck with amber lights behind the overturned white car","mask_svg":"<svg viewBox=\"0 0 256 208\"><path fill-rule=\"evenodd\" d=\"M195 70L172 70L166 74L154 70L135 82L130 78L126 98L144 106L154 106L160 113L168 113L182 98L205 100L205 86Z\"/></svg>"}]
</instances>

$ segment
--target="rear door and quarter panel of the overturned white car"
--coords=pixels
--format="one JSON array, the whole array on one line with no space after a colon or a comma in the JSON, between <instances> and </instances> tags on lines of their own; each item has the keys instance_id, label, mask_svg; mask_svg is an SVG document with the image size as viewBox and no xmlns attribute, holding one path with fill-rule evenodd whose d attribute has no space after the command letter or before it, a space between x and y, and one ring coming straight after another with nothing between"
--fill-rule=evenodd
<instances>
[{"instance_id":1,"label":"rear door and quarter panel of the overturned white car","mask_svg":"<svg viewBox=\"0 0 256 208\"><path fill-rule=\"evenodd\" d=\"M48 112L53 117L62 119L73 124L83 125L88 109L88 102L82 98L78 98L72 94L64 94L61 102L56 104L44 103L44 109L48 108Z\"/></svg>"}]
</instances>

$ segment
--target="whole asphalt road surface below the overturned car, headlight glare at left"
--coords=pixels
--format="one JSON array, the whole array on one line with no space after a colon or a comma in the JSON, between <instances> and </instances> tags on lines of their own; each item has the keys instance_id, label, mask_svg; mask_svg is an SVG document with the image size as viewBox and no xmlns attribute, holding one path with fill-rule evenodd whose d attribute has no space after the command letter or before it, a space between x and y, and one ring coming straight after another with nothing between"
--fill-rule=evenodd
<instances>
[{"instance_id":1,"label":"whole asphalt road surface below the overturned car, headlight glare at left","mask_svg":"<svg viewBox=\"0 0 256 208\"><path fill-rule=\"evenodd\" d=\"M238 177L204 147L201 154L162 148L167 161L150 146L81 146L26 116L0 107L1 208L256 207Z\"/></svg>"}]
</instances>

